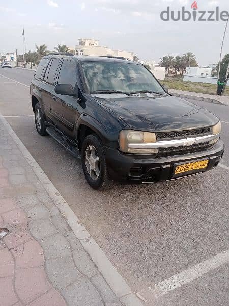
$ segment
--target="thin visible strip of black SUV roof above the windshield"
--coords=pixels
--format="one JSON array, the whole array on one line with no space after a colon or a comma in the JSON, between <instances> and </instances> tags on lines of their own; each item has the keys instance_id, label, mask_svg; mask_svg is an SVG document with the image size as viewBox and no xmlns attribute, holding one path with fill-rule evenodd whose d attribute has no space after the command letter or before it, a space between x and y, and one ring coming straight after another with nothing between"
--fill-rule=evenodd
<instances>
[{"instance_id":1,"label":"thin visible strip of black SUV roof above the windshield","mask_svg":"<svg viewBox=\"0 0 229 306\"><path fill-rule=\"evenodd\" d=\"M128 64L138 64L138 62L123 60L115 57L105 57L105 56L88 56L88 55L64 55L64 54L54 54L54 55L46 55L44 58L65 58L65 59L74 59L76 61L103 61L103 62L118 62L118 63L128 63Z\"/></svg>"}]
</instances>

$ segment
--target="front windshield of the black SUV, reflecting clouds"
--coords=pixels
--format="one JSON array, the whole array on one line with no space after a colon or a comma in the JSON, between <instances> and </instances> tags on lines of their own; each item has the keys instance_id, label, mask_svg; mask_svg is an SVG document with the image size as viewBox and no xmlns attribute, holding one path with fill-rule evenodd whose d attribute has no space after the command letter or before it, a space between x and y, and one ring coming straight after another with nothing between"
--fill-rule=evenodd
<instances>
[{"instance_id":1,"label":"front windshield of the black SUV, reflecting clouds","mask_svg":"<svg viewBox=\"0 0 229 306\"><path fill-rule=\"evenodd\" d=\"M90 93L166 94L153 75L142 65L112 61L82 62Z\"/></svg>"}]
</instances>

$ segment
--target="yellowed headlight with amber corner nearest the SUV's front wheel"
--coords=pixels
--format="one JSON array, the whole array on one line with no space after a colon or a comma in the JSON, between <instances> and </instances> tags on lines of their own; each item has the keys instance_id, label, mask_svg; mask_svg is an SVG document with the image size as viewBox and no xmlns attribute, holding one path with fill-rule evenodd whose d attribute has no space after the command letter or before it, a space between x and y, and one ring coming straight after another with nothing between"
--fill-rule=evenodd
<instances>
[{"instance_id":1,"label":"yellowed headlight with amber corner nearest the SUV's front wheel","mask_svg":"<svg viewBox=\"0 0 229 306\"><path fill-rule=\"evenodd\" d=\"M157 149L129 148L130 143L155 143L156 134L151 132L123 130L119 133L119 148L125 153L155 154Z\"/></svg>"}]
</instances>

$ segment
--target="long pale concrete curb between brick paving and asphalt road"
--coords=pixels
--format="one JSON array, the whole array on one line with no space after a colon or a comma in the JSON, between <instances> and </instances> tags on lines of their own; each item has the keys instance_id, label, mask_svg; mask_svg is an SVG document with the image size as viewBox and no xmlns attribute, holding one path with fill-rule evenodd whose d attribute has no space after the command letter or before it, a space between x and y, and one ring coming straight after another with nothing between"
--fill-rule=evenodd
<instances>
[{"instance_id":1,"label":"long pale concrete curb between brick paving and asphalt road","mask_svg":"<svg viewBox=\"0 0 229 306\"><path fill-rule=\"evenodd\" d=\"M74 214L68 203L64 200L59 191L48 179L48 176L44 173L39 164L35 161L33 156L18 138L10 124L6 121L6 119L2 116L1 113L0 120L2 121L11 138L15 141L16 145L18 146L19 150L21 151L28 164L30 164L42 186L45 188L56 207L58 207L59 211L66 219L72 231L80 240L80 243L83 246L84 250L89 254L91 259L97 265L98 270L110 286L111 290L121 300L123 306L142 306L142 303L137 297L137 295L132 292L129 285L118 273L117 269L111 264L105 253L96 243L96 241L91 237L90 233L79 222L78 217Z\"/></svg>"}]
</instances>

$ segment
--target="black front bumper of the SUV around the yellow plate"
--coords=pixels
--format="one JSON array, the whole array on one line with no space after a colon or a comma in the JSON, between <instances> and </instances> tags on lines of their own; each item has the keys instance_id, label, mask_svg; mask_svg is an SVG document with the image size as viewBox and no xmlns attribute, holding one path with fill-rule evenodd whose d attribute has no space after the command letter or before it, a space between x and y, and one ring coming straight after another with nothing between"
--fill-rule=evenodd
<instances>
[{"instance_id":1,"label":"black front bumper of the SUV around the yellow plate","mask_svg":"<svg viewBox=\"0 0 229 306\"><path fill-rule=\"evenodd\" d=\"M209 159L206 170L215 168L224 152L224 144L219 140L213 147L201 152L155 157L151 155L123 154L117 149L104 147L108 171L113 179L153 183L174 179L173 170L175 163L189 163L195 160ZM189 176L193 173L180 176ZM196 173L195 173L196 174Z\"/></svg>"}]
</instances>

